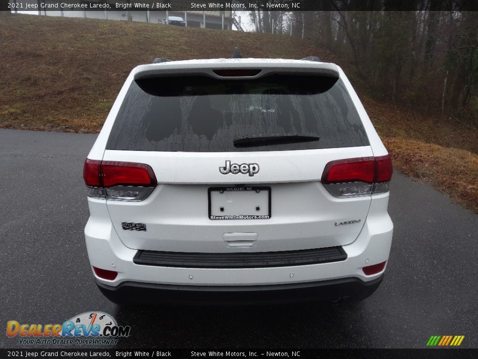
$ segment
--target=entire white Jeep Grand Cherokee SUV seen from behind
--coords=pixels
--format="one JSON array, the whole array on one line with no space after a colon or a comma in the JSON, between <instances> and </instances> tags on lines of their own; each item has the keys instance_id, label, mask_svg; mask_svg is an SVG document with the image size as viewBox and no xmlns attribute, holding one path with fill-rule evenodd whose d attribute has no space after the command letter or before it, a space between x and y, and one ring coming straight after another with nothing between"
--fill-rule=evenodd
<instances>
[{"instance_id":1,"label":"entire white Jeep Grand Cherokee SUV seen from behind","mask_svg":"<svg viewBox=\"0 0 478 359\"><path fill-rule=\"evenodd\" d=\"M363 299L382 281L392 164L340 67L134 68L84 166L97 284L116 303Z\"/></svg>"}]
</instances>

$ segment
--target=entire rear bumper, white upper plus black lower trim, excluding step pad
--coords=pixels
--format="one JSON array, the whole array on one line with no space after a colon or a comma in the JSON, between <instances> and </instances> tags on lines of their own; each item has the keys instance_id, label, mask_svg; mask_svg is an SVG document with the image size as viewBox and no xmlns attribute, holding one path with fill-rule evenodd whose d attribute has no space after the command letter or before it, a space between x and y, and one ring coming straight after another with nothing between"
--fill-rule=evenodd
<instances>
[{"instance_id":1,"label":"entire rear bumper, white upper plus black lower trim, excluding step pad","mask_svg":"<svg viewBox=\"0 0 478 359\"><path fill-rule=\"evenodd\" d=\"M86 246L92 266L118 273L114 280L93 273L105 296L117 303L140 299L150 303L196 304L361 299L374 292L386 270L366 275L362 268L388 260L393 225L386 212L387 196L377 195L377 198L383 197L382 200L372 200L359 237L342 246L347 257L340 261L286 263L284 266L274 262L273 266L268 263L265 267L240 265L237 268L217 268L211 263L205 266L183 263L177 267L177 260L172 266L136 263L138 250L121 242L108 211L91 205L91 200L91 216L85 228Z\"/></svg>"}]
</instances>

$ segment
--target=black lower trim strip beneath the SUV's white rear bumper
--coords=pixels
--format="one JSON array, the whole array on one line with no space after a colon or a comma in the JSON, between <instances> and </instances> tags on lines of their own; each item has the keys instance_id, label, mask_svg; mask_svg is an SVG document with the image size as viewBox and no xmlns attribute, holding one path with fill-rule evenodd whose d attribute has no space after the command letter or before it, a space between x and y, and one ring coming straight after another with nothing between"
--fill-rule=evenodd
<instances>
[{"instance_id":1,"label":"black lower trim strip beneath the SUV's white rear bumper","mask_svg":"<svg viewBox=\"0 0 478 359\"><path fill-rule=\"evenodd\" d=\"M382 282L340 278L310 283L257 286L190 286L122 282L117 287L97 281L98 288L112 302L176 305L260 305L369 297Z\"/></svg>"}]
</instances>

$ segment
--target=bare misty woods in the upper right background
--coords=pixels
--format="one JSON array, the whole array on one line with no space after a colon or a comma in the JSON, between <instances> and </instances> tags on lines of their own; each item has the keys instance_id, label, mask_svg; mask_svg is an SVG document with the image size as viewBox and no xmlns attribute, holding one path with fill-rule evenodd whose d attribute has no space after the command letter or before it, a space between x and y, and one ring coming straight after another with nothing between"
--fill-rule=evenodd
<instances>
[{"instance_id":1,"label":"bare misty woods in the upper right background","mask_svg":"<svg viewBox=\"0 0 478 359\"><path fill-rule=\"evenodd\" d=\"M478 11L455 1L408 0L406 11L389 0L318 2L321 11L250 11L250 18L258 32L273 26L345 58L374 97L446 114L476 131Z\"/></svg>"}]
</instances>

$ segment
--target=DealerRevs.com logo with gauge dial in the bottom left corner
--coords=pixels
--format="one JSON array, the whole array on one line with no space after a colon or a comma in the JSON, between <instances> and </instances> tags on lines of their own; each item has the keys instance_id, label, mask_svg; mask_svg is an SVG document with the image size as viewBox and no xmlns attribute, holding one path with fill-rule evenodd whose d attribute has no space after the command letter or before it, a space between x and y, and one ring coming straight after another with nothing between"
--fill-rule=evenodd
<instances>
[{"instance_id":1,"label":"DealerRevs.com logo with gauge dial in the bottom left corner","mask_svg":"<svg viewBox=\"0 0 478 359\"><path fill-rule=\"evenodd\" d=\"M18 337L19 344L116 345L118 338L129 336L131 327L119 326L115 318L103 312L85 312L63 324L6 323L6 335Z\"/></svg>"}]
</instances>

